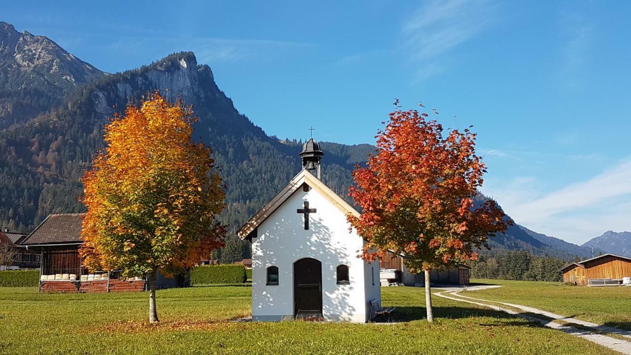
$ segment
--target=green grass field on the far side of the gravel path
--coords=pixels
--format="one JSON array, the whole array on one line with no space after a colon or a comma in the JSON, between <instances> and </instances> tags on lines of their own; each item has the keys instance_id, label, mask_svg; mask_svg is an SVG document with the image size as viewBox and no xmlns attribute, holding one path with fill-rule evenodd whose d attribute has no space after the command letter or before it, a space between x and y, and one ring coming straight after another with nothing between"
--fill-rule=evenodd
<instances>
[{"instance_id":1,"label":"green grass field on the far side of the gravel path","mask_svg":"<svg viewBox=\"0 0 631 355\"><path fill-rule=\"evenodd\" d=\"M561 282L473 279L504 285L469 291L469 297L522 304L589 322L631 330L631 287L568 286Z\"/></svg>"}]
</instances>

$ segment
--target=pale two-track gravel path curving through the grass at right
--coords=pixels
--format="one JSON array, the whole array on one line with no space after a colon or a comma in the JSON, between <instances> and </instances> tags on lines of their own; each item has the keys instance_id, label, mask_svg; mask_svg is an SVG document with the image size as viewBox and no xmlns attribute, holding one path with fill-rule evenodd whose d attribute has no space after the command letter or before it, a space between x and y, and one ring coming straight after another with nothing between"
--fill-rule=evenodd
<instances>
[{"instance_id":1,"label":"pale two-track gravel path curving through the grass at right","mask_svg":"<svg viewBox=\"0 0 631 355\"><path fill-rule=\"evenodd\" d=\"M488 289L488 288L493 288L493 287L498 287L498 286L474 286L474 287L468 287L468 290L481 290L481 289ZM435 288L440 288L443 289L443 287L435 287ZM584 320L578 320L576 318L569 318L569 317L564 317L561 315L556 315L554 313L550 313L547 311L543 311L543 310L538 310L537 308L532 308L532 307L528 307L528 306L522 306L521 304L512 304L512 303L504 303L504 302L497 302L497 301L488 301L487 299L480 299L480 298L471 298L468 296L462 296L461 294L458 294L458 292L464 291L463 288L461 287L445 287L445 291L440 291L435 293L436 296L439 296L441 298L446 298L446 299L451 299L453 301L459 301L459 302L464 302L464 303L471 303L471 304L476 304L478 306L483 306L483 307L487 307L490 308L492 310L496 310L496 311L502 311L505 313L509 313L510 315L515 315L515 316L519 316L521 318L524 318L526 320L529 320L531 322L536 322L536 323L540 323L542 325L545 325L546 327L549 328L553 328L556 330L560 330L562 332L565 332L567 334L570 335L574 335L575 337L579 337L579 338L583 338L583 339L587 339L591 342L594 342L596 344L599 344L601 346L604 347L608 347L611 350L614 351L618 351L622 354L625 355L631 355L631 341L627 341L627 340L622 340L622 339L616 339L614 337L610 337L604 334L599 334L599 333L608 333L608 334L616 334L616 335L621 335L623 337L628 337L631 339L631 332L628 332L627 330L622 330L622 329L618 329L618 328L613 328L613 327L606 327L604 325L600 325L600 324L596 324L596 323L591 323L591 322L585 322ZM449 295L449 296L447 296ZM545 319L545 318L537 318L536 316L530 316L530 315L526 315L524 313L521 312L517 312L514 310L510 310L509 308L503 308L500 306L495 306L493 304L490 303L499 303L499 304L504 304L505 306L510 306L512 308L517 308L518 310L524 311L524 312L528 312L531 314L536 314L536 315L541 315L545 318L551 318L551 319ZM557 321L562 321L562 322L568 322L568 323L573 323L575 325L580 325L581 328L579 327L574 327L572 325L569 324L562 324L562 323L557 323ZM586 330L585 328L589 328L591 330Z\"/></svg>"}]
</instances>

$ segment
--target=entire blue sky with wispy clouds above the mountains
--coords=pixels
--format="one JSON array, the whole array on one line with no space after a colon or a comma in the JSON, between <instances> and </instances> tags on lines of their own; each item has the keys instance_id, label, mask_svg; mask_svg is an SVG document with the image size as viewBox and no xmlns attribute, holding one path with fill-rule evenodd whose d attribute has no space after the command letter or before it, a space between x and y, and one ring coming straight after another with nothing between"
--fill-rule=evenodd
<instances>
[{"instance_id":1,"label":"entire blue sky with wispy clouds above the mountains","mask_svg":"<svg viewBox=\"0 0 631 355\"><path fill-rule=\"evenodd\" d=\"M538 232L631 230L631 3L13 2L0 20L104 71L194 51L269 135L374 143L399 98L474 125L483 192Z\"/></svg>"}]
</instances>

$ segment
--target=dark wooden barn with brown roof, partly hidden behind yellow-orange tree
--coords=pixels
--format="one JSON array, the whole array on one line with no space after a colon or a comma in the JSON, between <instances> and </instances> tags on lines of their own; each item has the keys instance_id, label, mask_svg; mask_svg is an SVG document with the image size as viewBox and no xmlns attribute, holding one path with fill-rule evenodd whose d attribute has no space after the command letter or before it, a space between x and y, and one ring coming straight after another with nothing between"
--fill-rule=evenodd
<instances>
[{"instance_id":1,"label":"dark wooden barn with brown roof, partly hidden behind yellow-orange tree","mask_svg":"<svg viewBox=\"0 0 631 355\"><path fill-rule=\"evenodd\" d=\"M46 217L21 245L39 253L40 292L116 292L144 291L146 280L139 277L122 279L120 272L90 272L82 265L79 247L84 214L53 214ZM156 286L182 287L189 284L188 275L164 277L158 274Z\"/></svg>"}]
</instances>

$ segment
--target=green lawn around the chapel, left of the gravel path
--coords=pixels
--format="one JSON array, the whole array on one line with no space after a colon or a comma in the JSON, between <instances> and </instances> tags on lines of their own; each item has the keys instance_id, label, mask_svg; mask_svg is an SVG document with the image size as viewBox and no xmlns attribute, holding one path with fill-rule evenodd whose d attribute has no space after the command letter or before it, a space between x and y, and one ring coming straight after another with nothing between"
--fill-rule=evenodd
<instances>
[{"instance_id":1,"label":"green lawn around the chapel, left of the gravel path","mask_svg":"<svg viewBox=\"0 0 631 355\"><path fill-rule=\"evenodd\" d=\"M234 323L250 315L251 287L158 291L160 325L146 323L148 294L39 294L0 287L0 354L609 354L604 347L423 289L382 288L399 324Z\"/></svg>"}]
</instances>

